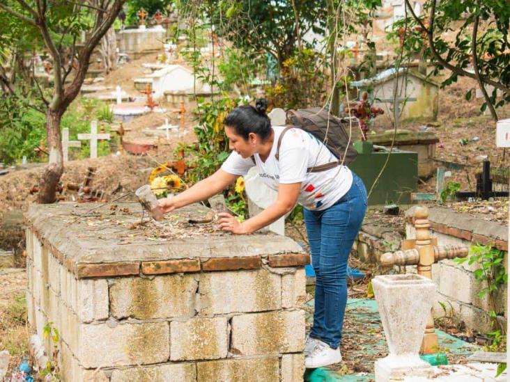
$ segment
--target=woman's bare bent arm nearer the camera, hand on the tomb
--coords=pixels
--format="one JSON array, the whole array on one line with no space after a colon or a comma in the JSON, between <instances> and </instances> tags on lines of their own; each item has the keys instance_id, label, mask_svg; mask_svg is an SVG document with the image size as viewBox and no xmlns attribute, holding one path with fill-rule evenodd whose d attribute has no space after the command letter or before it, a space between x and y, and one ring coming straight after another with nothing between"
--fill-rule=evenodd
<instances>
[{"instance_id":1,"label":"woman's bare bent arm nearer the camera, hand on the tomb","mask_svg":"<svg viewBox=\"0 0 510 382\"><path fill-rule=\"evenodd\" d=\"M247 234L260 230L266 225L277 221L287 212L291 212L300 192L301 183L279 184L278 200L264 209L263 212L242 223L239 223L238 220L230 214L222 213L219 214L219 225L222 230L230 231L235 234Z\"/></svg>"}]
</instances>

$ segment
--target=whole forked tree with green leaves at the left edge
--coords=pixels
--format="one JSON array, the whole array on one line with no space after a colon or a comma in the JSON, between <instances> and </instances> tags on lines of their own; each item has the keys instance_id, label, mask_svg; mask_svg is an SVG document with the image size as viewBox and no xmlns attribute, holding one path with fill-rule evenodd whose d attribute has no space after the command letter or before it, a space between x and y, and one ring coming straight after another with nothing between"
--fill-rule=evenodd
<instances>
[{"instance_id":1,"label":"whole forked tree with green leaves at the left edge","mask_svg":"<svg viewBox=\"0 0 510 382\"><path fill-rule=\"evenodd\" d=\"M32 48L38 49L40 41L52 57L53 89L40 90L40 99L46 115L46 134L49 164L40 180L38 202L54 202L56 185L63 173L61 143L61 118L79 94L84 82L91 55L101 38L107 33L126 0L52 1L46 0L0 0L0 19L13 19L20 28L35 38ZM19 31L9 31L1 26L0 51L10 52L10 41L20 39ZM82 32L88 32L82 45L78 45ZM34 42L35 41L35 42ZM0 63L1 65L1 63ZM0 73L7 73L2 66ZM69 83L66 81L69 79ZM2 77L4 88L15 94L6 76ZM34 78L35 81L35 78Z\"/></svg>"}]
</instances>

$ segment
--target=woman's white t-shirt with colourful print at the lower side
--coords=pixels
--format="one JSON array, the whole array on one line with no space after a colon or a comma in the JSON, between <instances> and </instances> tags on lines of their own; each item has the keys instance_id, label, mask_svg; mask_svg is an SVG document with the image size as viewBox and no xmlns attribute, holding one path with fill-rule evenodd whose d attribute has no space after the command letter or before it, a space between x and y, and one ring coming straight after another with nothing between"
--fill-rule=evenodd
<instances>
[{"instance_id":1,"label":"woman's white t-shirt with colourful print at the lower side","mask_svg":"<svg viewBox=\"0 0 510 382\"><path fill-rule=\"evenodd\" d=\"M254 154L258 176L271 189L278 185L301 183L297 202L312 210L323 210L334 205L353 183L353 173L346 166L337 166L327 171L307 173L307 168L327 164L338 159L313 135L302 129L289 129L281 140L279 160L275 158L278 139L284 126L273 126L275 139L268 159L263 162ZM224 161L222 170L233 175L246 175L254 166L252 158L243 159L233 151Z\"/></svg>"}]
</instances>

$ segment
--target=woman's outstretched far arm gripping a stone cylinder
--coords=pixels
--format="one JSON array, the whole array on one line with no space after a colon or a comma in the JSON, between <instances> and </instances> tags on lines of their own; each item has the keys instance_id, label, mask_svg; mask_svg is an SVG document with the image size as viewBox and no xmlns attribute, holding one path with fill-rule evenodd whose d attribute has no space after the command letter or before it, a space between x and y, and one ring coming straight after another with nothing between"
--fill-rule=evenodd
<instances>
[{"instance_id":1,"label":"woman's outstretched far arm gripping a stone cylinder","mask_svg":"<svg viewBox=\"0 0 510 382\"><path fill-rule=\"evenodd\" d=\"M160 199L158 205L164 213L167 213L174 209L206 200L225 189L229 184L235 182L238 177L239 175L226 173L220 168L210 177L206 177L206 179L194 184L189 189L179 193L173 198Z\"/></svg>"}]
</instances>

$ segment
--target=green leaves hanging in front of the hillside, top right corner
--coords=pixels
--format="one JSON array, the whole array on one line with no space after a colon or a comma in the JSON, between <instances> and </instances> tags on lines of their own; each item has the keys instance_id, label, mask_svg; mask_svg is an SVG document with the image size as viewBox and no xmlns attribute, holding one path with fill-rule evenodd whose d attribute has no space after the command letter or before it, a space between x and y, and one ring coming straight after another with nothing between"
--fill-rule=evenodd
<instances>
[{"instance_id":1,"label":"green leaves hanging in front of the hillside, top right corner","mask_svg":"<svg viewBox=\"0 0 510 382\"><path fill-rule=\"evenodd\" d=\"M430 14L435 0L424 3L425 24L430 28ZM466 15L468 15L466 17ZM469 0L469 1L441 1L435 8L433 25L433 49L428 42L426 33L421 33L418 22L408 10L408 17L393 25L393 33L389 38L395 38L399 29L407 30L403 45L404 56L423 56L436 62L433 75L440 74L445 66L437 63L433 50L447 63L454 65L455 70L449 70L448 76L442 81L442 86L449 86L457 81L459 75L465 75L468 66L473 62L472 31L476 18L479 18L479 31L476 38L477 67L481 77L493 79L505 88L510 88L510 54L509 28L510 7L508 1L501 0ZM424 16L420 17L422 21ZM454 38L446 37L443 31L453 31ZM468 92L470 93L470 92ZM471 94L467 94L469 100ZM510 102L510 91L497 100L497 90L490 94L490 103L495 107ZM484 103L482 111L486 109Z\"/></svg>"}]
</instances>

